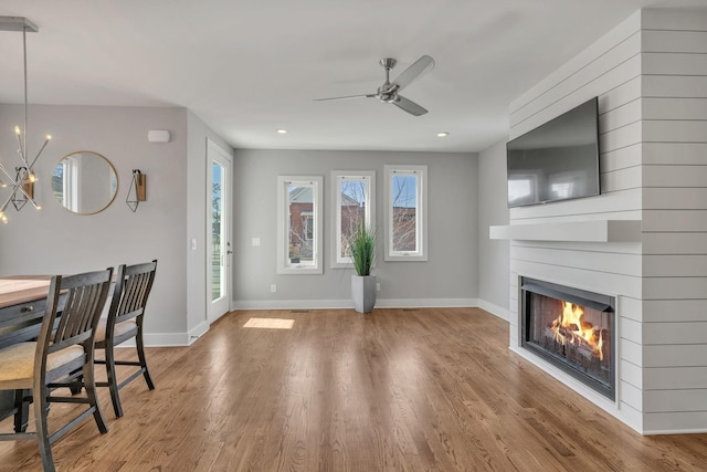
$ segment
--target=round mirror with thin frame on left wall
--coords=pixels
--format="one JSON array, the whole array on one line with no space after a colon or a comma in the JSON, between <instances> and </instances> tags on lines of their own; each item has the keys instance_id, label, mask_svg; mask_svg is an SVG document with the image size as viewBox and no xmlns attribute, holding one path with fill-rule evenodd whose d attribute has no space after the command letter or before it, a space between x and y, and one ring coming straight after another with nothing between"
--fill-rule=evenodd
<instances>
[{"instance_id":1,"label":"round mirror with thin frame on left wall","mask_svg":"<svg viewBox=\"0 0 707 472\"><path fill-rule=\"evenodd\" d=\"M78 150L59 161L52 176L52 190L68 211L94 214L115 199L118 177L108 159L98 153Z\"/></svg>"}]
</instances>

